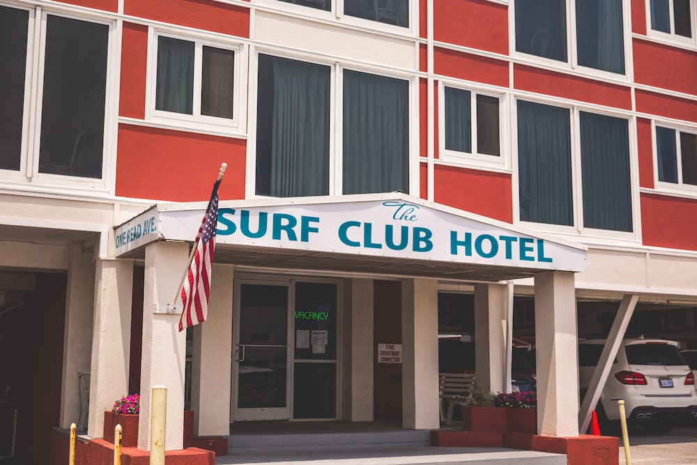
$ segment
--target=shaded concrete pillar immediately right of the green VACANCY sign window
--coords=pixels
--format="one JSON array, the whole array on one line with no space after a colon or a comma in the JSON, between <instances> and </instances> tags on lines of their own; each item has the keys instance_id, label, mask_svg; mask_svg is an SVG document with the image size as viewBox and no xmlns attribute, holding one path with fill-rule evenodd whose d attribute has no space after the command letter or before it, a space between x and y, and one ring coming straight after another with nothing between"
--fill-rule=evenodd
<instances>
[{"instance_id":1,"label":"shaded concrete pillar immediately right of the green VACANCY sign window","mask_svg":"<svg viewBox=\"0 0 697 465\"><path fill-rule=\"evenodd\" d=\"M342 418L348 421L372 421L373 280L346 280L342 329Z\"/></svg>"}]
</instances>

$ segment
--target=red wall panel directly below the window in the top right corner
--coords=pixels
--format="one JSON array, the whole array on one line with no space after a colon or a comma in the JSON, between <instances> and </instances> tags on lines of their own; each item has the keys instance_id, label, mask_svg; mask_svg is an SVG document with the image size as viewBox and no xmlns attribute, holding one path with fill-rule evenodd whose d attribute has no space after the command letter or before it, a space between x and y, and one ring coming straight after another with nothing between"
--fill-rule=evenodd
<instances>
[{"instance_id":1,"label":"red wall panel directly below the window in the top right corner","mask_svg":"<svg viewBox=\"0 0 697 465\"><path fill-rule=\"evenodd\" d=\"M697 52L634 39L634 81L697 95Z\"/></svg>"}]
</instances>

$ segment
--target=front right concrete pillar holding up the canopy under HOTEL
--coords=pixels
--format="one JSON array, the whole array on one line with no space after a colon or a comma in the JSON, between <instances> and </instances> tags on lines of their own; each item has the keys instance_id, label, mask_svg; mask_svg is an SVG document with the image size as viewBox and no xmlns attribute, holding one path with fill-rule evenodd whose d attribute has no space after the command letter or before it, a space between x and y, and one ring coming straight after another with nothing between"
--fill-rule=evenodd
<instances>
[{"instance_id":1,"label":"front right concrete pillar holding up the canopy under HOTEL","mask_svg":"<svg viewBox=\"0 0 697 465\"><path fill-rule=\"evenodd\" d=\"M579 435L579 340L574 273L535 275L537 432Z\"/></svg>"}]
</instances>

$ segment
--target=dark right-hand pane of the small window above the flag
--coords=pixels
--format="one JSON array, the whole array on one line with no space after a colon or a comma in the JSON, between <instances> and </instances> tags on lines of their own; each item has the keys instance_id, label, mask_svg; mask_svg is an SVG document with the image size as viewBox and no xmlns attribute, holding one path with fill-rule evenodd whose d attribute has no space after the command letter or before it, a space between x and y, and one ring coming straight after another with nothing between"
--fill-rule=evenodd
<instances>
[{"instance_id":1,"label":"dark right-hand pane of the small window above the flag","mask_svg":"<svg viewBox=\"0 0 697 465\"><path fill-rule=\"evenodd\" d=\"M201 114L232 119L235 52L203 47Z\"/></svg>"}]
</instances>

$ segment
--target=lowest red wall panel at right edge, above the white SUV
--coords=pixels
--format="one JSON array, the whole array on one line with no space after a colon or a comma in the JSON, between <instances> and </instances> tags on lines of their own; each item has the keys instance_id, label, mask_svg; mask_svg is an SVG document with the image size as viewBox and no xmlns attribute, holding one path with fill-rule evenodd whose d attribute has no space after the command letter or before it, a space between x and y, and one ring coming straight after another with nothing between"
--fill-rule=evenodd
<instances>
[{"instance_id":1,"label":"lowest red wall panel at right edge, above the white SUV","mask_svg":"<svg viewBox=\"0 0 697 465\"><path fill-rule=\"evenodd\" d=\"M644 245L697 250L697 200L642 194L641 229Z\"/></svg>"}]
</instances>

